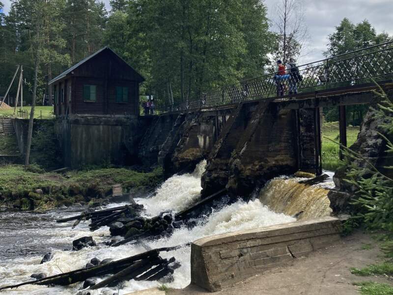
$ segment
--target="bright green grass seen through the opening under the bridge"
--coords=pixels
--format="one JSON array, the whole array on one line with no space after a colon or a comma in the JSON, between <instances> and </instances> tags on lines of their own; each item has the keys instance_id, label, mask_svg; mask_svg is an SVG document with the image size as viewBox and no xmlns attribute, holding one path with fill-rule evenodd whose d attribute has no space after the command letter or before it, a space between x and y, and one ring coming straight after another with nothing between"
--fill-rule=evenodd
<instances>
[{"instance_id":1,"label":"bright green grass seen through the opening under the bridge","mask_svg":"<svg viewBox=\"0 0 393 295\"><path fill-rule=\"evenodd\" d=\"M358 136L359 127L347 127L347 146L352 146ZM322 168L335 171L339 166L339 147L325 137L339 142L338 122L326 122L322 126Z\"/></svg>"}]
</instances>

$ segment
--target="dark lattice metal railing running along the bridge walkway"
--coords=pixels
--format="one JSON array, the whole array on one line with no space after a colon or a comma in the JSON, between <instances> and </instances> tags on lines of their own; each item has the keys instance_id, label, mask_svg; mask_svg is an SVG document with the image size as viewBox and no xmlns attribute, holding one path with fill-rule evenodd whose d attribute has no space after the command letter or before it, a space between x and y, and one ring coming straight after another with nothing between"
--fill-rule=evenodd
<instances>
[{"instance_id":1,"label":"dark lattice metal railing running along the bridge walkway","mask_svg":"<svg viewBox=\"0 0 393 295\"><path fill-rule=\"evenodd\" d=\"M158 105L156 113L219 107L242 101L281 97L316 90L361 85L393 77L393 41L359 49L328 59L299 65L298 72L270 73L218 89L173 105ZM382 79L383 78L383 79ZM296 89L296 90L295 90Z\"/></svg>"}]
</instances>

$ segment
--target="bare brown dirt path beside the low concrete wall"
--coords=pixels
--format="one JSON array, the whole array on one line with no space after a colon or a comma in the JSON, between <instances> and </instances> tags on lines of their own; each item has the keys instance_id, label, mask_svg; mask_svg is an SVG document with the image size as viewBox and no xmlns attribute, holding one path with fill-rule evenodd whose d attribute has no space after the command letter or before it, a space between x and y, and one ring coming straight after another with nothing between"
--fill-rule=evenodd
<instances>
[{"instance_id":1,"label":"bare brown dirt path beside the low concrete wall","mask_svg":"<svg viewBox=\"0 0 393 295\"><path fill-rule=\"evenodd\" d=\"M362 249L370 244L371 249ZM368 248L368 247L367 247ZM383 260L376 242L367 234L357 232L344 237L340 244L317 250L307 257L253 276L245 282L217 295L359 295L352 283L378 281L393 283L376 277L351 274L350 267L363 267ZM196 286L170 290L168 295L212 294Z\"/></svg>"}]
</instances>

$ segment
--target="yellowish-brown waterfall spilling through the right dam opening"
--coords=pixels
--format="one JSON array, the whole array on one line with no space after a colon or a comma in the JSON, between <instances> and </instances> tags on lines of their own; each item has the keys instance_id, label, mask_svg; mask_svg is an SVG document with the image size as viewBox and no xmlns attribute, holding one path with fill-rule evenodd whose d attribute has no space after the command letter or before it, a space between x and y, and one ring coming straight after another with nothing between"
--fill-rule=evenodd
<instances>
[{"instance_id":1,"label":"yellowish-brown waterfall spilling through the right dam opening","mask_svg":"<svg viewBox=\"0 0 393 295\"><path fill-rule=\"evenodd\" d=\"M332 212L328 199L332 180L314 185L299 183L307 178L276 177L270 180L259 194L259 200L271 210L290 216L299 214L298 219L328 216Z\"/></svg>"}]
</instances>

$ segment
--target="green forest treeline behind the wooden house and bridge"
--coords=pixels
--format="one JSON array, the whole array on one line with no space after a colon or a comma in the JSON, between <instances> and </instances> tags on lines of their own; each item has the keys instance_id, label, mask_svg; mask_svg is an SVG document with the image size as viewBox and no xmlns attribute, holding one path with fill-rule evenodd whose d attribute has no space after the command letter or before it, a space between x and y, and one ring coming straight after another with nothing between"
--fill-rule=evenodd
<instances>
[{"instance_id":1,"label":"green forest treeline behind the wooden house and bridge","mask_svg":"<svg viewBox=\"0 0 393 295\"><path fill-rule=\"evenodd\" d=\"M193 98L263 75L276 58L304 54L302 38L309 37L298 26L305 26L298 17L302 12L287 11L298 9L296 2L279 1L278 18L269 20L261 0L111 0L111 11L99 0L11 0L8 14L0 15L0 96L17 64L23 64L31 90L39 54L40 104L50 79L109 45L145 77L141 94L167 103ZM355 25L344 19L330 35L325 55L387 39L368 21ZM31 91L24 93L28 102Z\"/></svg>"}]
</instances>

